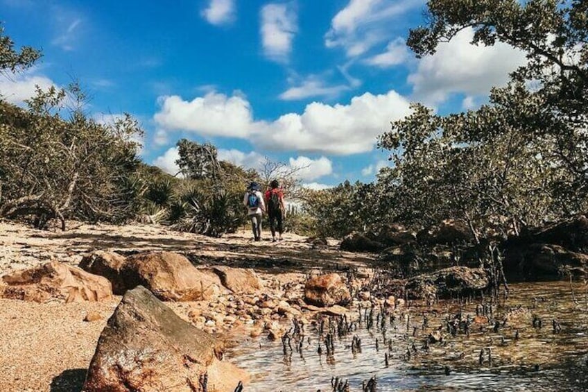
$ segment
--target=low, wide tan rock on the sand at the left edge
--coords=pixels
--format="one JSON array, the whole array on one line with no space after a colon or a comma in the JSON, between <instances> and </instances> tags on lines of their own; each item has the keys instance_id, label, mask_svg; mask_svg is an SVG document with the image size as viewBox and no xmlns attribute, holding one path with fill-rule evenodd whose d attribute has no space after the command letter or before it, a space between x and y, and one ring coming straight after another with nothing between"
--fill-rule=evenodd
<instances>
[{"instance_id":1,"label":"low, wide tan rock on the sand at the left edge","mask_svg":"<svg viewBox=\"0 0 588 392\"><path fill-rule=\"evenodd\" d=\"M102 276L60 262L50 262L2 277L0 296L18 300L46 302L97 302L112 298L112 286Z\"/></svg>"}]
</instances>

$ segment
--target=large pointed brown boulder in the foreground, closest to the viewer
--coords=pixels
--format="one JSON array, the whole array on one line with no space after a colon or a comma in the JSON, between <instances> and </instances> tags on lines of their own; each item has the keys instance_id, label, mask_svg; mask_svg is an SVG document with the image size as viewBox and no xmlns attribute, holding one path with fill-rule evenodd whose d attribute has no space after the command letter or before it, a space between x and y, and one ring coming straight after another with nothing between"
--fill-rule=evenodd
<instances>
[{"instance_id":1,"label":"large pointed brown boulder in the foreground, closest to the viewer","mask_svg":"<svg viewBox=\"0 0 588 392\"><path fill-rule=\"evenodd\" d=\"M127 291L100 339L86 392L232 392L248 374L220 361L222 346L144 287Z\"/></svg>"}]
</instances>

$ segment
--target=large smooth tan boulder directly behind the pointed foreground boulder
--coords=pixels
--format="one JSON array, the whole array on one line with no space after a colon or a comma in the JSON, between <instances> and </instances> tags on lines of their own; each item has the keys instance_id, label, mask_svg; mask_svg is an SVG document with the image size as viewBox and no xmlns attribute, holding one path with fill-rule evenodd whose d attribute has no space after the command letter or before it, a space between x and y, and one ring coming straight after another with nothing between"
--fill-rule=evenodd
<instances>
[{"instance_id":1,"label":"large smooth tan boulder directly behind the pointed foreground boulder","mask_svg":"<svg viewBox=\"0 0 588 392\"><path fill-rule=\"evenodd\" d=\"M160 300L207 300L220 292L216 275L196 269L189 259L171 252L129 256L121 277L127 289L141 285Z\"/></svg>"}]
</instances>

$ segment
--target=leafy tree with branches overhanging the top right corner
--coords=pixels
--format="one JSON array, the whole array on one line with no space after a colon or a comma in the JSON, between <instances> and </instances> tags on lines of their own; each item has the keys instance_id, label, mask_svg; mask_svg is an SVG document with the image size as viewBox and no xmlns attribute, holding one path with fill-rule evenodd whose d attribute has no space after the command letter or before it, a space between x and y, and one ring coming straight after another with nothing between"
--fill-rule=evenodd
<instances>
[{"instance_id":1,"label":"leafy tree with branches overhanging the top right corner","mask_svg":"<svg viewBox=\"0 0 588 392\"><path fill-rule=\"evenodd\" d=\"M585 0L430 0L429 22L410 30L408 46L418 57L435 53L440 42L473 28L474 44L506 42L527 54L528 64L512 74L517 89L495 94L514 103L521 86L534 82L533 97L510 119L551 145L560 176L560 197L588 195L588 3ZM567 178L567 179L566 179ZM562 203L565 204L566 202ZM571 203L578 205L576 201ZM581 204L581 203L580 203Z\"/></svg>"}]
</instances>

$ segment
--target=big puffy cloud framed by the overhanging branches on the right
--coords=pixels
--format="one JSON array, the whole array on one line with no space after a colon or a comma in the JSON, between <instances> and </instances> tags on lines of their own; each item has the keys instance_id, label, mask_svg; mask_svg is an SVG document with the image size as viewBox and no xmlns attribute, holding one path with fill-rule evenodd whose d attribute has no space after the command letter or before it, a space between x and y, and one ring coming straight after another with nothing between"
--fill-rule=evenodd
<instances>
[{"instance_id":1,"label":"big puffy cloud framed by the overhanging branches on the right","mask_svg":"<svg viewBox=\"0 0 588 392\"><path fill-rule=\"evenodd\" d=\"M435 105L456 92L486 95L490 87L505 85L508 74L526 63L524 53L508 44L474 46L473 37L473 29L467 28L420 60L417 71L408 76L416 99Z\"/></svg>"}]
</instances>

